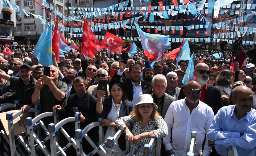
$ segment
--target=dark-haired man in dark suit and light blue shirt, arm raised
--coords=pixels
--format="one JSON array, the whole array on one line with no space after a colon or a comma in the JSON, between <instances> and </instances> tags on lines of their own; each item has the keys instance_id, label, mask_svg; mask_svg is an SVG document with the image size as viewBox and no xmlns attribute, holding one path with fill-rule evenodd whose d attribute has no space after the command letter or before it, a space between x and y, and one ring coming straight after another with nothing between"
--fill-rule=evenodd
<instances>
[{"instance_id":1,"label":"dark-haired man in dark suit and light blue shirt, arm raised","mask_svg":"<svg viewBox=\"0 0 256 156\"><path fill-rule=\"evenodd\" d=\"M117 75L121 77L126 68L126 64L119 63L120 70ZM151 94L152 88L141 80L142 68L139 64L133 64L129 67L129 74L131 79L123 78L125 87L127 88L127 100L132 101L132 104L137 104L137 100L141 94ZM116 76L117 77L117 76ZM134 92L135 91L135 92Z\"/></svg>"}]
</instances>

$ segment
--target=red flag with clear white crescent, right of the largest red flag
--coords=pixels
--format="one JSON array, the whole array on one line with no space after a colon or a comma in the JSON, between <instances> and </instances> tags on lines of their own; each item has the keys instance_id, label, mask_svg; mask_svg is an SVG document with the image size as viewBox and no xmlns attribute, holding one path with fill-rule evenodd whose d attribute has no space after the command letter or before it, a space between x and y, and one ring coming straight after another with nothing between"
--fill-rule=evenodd
<instances>
[{"instance_id":1,"label":"red flag with clear white crescent, right of the largest red flag","mask_svg":"<svg viewBox=\"0 0 256 156\"><path fill-rule=\"evenodd\" d=\"M107 32L102 43L102 48L106 48L110 50L110 54L114 52L117 52L120 54L122 51L123 45L124 45L123 39L117 37L116 35L111 34L110 32Z\"/></svg>"}]
</instances>

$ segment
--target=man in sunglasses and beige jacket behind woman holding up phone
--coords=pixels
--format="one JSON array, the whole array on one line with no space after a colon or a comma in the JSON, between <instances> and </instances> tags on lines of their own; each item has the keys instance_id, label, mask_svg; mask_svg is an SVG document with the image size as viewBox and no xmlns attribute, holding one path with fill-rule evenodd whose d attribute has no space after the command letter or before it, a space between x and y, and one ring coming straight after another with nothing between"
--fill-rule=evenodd
<instances>
[{"instance_id":1,"label":"man in sunglasses and beige jacket behind woman holding up phone","mask_svg":"<svg viewBox=\"0 0 256 156\"><path fill-rule=\"evenodd\" d=\"M103 69L103 68L99 68L98 71L96 72L96 82L97 84L95 85L91 85L88 88L88 93L92 94L93 96L95 96L97 98L97 90L99 90L99 80L108 80L108 72ZM108 84L107 84L107 88L108 88ZM110 95L109 89L108 89L108 95Z\"/></svg>"}]
</instances>

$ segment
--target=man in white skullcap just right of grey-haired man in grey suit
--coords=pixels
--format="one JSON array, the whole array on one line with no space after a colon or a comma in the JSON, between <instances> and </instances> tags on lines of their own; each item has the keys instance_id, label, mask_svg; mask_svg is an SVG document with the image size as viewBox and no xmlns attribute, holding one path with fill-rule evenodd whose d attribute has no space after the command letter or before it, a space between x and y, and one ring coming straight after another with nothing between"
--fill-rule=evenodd
<instances>
[{"instance_id":1,"label":"man in white skullcap just right of grey-haired man in grey suit","mask_svg":"<svg viewBox=\"0 0 256 156\"><path fill-rule=\"evenodd\" d=\"M175 97L176 100L178 100L179 92L181 91L181 88L177 87L177 83L179 81L177 73L176 72L167 73L166 79L167 79L167 87L166 87L165 93L169 94L172 97Z\"/></svg>"}]
</instances>

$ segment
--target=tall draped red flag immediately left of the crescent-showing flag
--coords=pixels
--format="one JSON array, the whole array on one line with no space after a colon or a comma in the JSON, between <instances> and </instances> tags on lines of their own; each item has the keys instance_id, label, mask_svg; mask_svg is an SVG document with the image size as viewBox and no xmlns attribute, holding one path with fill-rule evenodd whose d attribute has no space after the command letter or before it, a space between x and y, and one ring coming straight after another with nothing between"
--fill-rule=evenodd
<instances>
[{"instance_id":1,"label":"tall draped red flag immediately left of the crescent-showing flag","mask_svg":"<svg viewBox=\"0 0 256 156\"><path fill-rule=\"evenodd\" d=\"M93 57L98 53L98 51L100 51L101 45L101 41L99 41L98 37L96 37L96 35L88 27L86 20L84 19L83 40L81 45L82 54L93 59Z\"/></svg>"}]
</instances>

